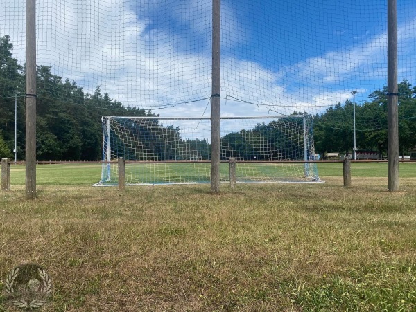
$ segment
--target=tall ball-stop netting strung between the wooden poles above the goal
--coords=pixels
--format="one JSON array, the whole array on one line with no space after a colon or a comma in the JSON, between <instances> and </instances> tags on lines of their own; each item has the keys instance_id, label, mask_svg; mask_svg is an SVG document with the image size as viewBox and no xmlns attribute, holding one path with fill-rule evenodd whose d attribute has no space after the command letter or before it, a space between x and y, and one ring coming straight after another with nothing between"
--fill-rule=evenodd
<instances>
[{"instance_id":1,"label":"tall ball-stop netting strung between the wooden poles above the goal","mask_svg":"<svg viewBox=\"0 0 416 312\"><path fill-rule=\"evenodd\" d=\"M320 138L348 140L320 140L320 153L351 150L354 125L358 148L385 152L387 1L221 2L221 116L308 113ZM399 139L409 152L416 145L416 2L397 2L398 77L408 84L399 88ZM96 128L98 116L116 114L110 108L121 105L159 116L209 115L211 1L37 0L36 6L41 159L99 157L99 147L88 152L78 142L86 140L83 125L71 123L79 156L71 156L72 143L46 146L62 137L50 116L76 120L77 106L98 107L91 116ZM25 10L26 0L0 0L0 138L8 149L15 97L18 149L24 149Z\"/></svg>"}]
</instances>

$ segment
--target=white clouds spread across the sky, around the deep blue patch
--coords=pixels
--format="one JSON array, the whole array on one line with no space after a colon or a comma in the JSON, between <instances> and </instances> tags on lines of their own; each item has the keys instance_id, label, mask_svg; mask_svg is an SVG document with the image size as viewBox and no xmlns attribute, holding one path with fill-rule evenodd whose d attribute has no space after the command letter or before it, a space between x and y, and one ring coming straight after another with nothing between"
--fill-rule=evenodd
<instances>
[{"instance_id":1,"label":"white clouds spread across the sky, around the deep blue patch","mask_svg":"<svg viewBox=\"0 0 416 312\"><path fill-rule=\"evenodd\" d=\"M0 0L0 35L15 44L14 56L24 63L25 0ZM186 28L176 33L148 14L160 1L148 1L143 10L131 0L37 1L37 62L53 66L53 73L75 80L92 93L97 85L125 105L157 109L164 116L209 116L211 95L211 2L166 0L175 8L175 22ZM246 44L239 16L223 4L223 48ZM172 21L173 22L173 21ZM400 51L414 59L416 19L399 27ZM411 31L410 31L411 30ZM338 32L343 35L345 30ZM195 43L185 34L193 34ZM250 59L223 58L221 95L224 116L315 113L331 104L364 96L366 82L385 80L385 33L349 49L329 51L272 71ZM363 41L365 40L365 41ZM182 44L182 45L181 45ZM406 46L404 46L406 44ZM407 49L406 47L413 47ZM182 48L181 48L182 47ZM411 50L411 51L410 51ZM227 53L227 55L230 55ZM307 55L304 53L304 55ZM401 60L401 62L405 62ZM414 61L412 61L414 62ZM414 66L414 63L412 63ZM415 75L402 66L400 75ZM374 91L374 90L370 90ZM236 99L245 100L240 102ZM271 110L271 111L270 111Z\"/></svg>"}]
</instances>

